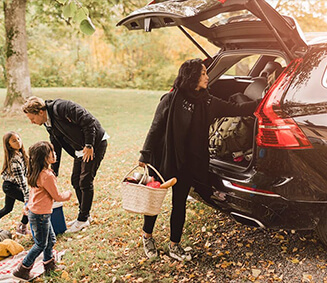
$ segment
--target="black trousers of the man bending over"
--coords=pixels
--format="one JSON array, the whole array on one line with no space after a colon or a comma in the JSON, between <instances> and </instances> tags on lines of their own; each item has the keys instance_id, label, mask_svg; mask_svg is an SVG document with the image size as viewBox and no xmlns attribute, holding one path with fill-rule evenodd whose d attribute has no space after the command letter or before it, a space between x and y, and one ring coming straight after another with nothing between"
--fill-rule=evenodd
<instances>
[{"instance_id":1,"label":"black trousers of the man bending over","mask_svg":"<svg viewBox=\"0 0 327 283\"><path fill-rule=\"evenodd\" d=\"M82 158L74 159L71 182L76 192L79 203L78 221L86 221L90 216L93 202L93 180L96 176L100 163L106 153L107 141L104 140L95 149L94 158L89 162L83 162Z\"/></svg>"}]
</instances>

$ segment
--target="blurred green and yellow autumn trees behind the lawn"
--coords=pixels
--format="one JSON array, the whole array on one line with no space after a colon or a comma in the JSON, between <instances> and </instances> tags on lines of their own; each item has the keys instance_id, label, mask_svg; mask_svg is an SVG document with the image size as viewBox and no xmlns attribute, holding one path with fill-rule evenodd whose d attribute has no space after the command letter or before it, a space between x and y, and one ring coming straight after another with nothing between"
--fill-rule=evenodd
<instances>
[{"instance_id":1,"label":"blurred green and yellow autumn trees behind the lawn","mask_svg":"<svg viewBox=\"0 0 327 283\"><path fill-rule=\"evenodd\" d=\"M6 3L26 0L3 0ZM83 3L83 6L80 5ZM26 7L27 56L32 87L171 87L180 64L203 54L176 28L128 31L116 23L149 0L29 0ZM295 16L305 32L326 31L326 1L269 0L282 14ZM89 22L92 19L96 32ZM17 18L16 18L17 19ZM4 14L0 14L4 20ZM81 25L84 21L84 24ZM81 26L81 28L80 28ZM85 35L82 29L87 28ZM209 53L218 48L196 36ZM0 87L8 87L7 105L26 94L9 91L5 30L0 25ZM10 54L10 53L9 53ZM26 64L27 66L27 64ZM23 76L18 83L23 82ZM27 80L28 81L28 80Z\"/></svg>"}]
</instances>

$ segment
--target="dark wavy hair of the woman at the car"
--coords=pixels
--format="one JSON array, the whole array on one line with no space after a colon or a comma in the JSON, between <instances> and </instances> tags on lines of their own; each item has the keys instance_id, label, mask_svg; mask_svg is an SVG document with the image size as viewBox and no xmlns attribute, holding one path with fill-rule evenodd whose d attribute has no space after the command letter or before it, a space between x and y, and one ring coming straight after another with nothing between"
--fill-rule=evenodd
<instances>
[{"instance_id":1,"label":"dark wavy hair of the woman at the car","mask_svg":"<svg viewBox=\"0 0 327 283\"><path fill-rule=\"evenodd\" d=\"M203 61L199 58L185 61L178 71L174 89L194 90L198 86Z\"/></svg>"}]
</instances>

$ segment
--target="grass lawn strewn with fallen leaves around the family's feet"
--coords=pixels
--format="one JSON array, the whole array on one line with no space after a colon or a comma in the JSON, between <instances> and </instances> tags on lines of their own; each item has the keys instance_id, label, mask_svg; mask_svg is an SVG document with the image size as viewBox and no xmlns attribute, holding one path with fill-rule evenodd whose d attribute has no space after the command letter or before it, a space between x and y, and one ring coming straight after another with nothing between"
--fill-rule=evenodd
<instances>
[{"instance_id":1,"label":"grass lawn strewn with fallen leaves around the family's feet","mask_svg":"<svg viewBox=\"0 0 327 283\"><path fill-rule=\"evenodd\" d=\"M158 217L155 238L160 258L146 260L141 244L142 216L125 212L121 208L119 182L124 174L138 162L153 113L163 92L115 89L50 88L33 89L33 94L44 99L63 98L85 106L101 122L110 135L109 147L95 180L95 197L92 207L94 224L85 231L63 234L58 237L56 249L66 250L63 264L66 273L56 273L50 282L178 282L191 276L188 266L177 263L167 256L169 239L169 194L163 212ZM0 105L5 91L0 90ZM1 116L0 135L6 131L21 134L25 149L39 141L47 140L43 126L32 125L22 115ZM0 164L3 152L0 153ZM64 154L58 183L60 190L72 189L70 174L72 159ZM0 206L4 195L0 193ZM211 209L202 209L202 204L190 204L183 243L192 245L189 238L196 234L198 225L204 225L205 214ZM22 204L16 203L14 211L1 219L1 228L15 231L21 217ZM78 212L75 194L64 203L66 221L76 218ZM195 223L195 221L199 223ZM202 223L201 223L202 222ZM15 238L28 249L29 239ZM190 277L192 278L192 277ZM45 279L41 279L45 280ZM138 280L138 281L137 281Z\"/></svg>"}]
</instances>

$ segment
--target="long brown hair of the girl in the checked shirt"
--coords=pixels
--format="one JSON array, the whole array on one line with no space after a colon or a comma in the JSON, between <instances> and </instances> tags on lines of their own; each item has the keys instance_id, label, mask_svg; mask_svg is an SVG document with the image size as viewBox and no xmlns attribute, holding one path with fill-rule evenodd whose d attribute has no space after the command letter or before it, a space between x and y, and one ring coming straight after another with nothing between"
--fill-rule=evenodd
<instances>
[{"instance_id":1,"label":"long brown hair of the girl in the checked shirt","mask_svg":"<svg viewBox=\"0 0 327 283\"><path fill-rule=\"evenodd\" d=\"M13 135L17 135L20 137L20 135L16 132L10 131L8 133L5 133L2 141L3 141L3 151L4 151L4 162L1 170L1 174L7 171L10 175L12 174L12 168L10 164L10 160L15 156L15 150L10 146L9 140ZM28 166L28 156L26 154L26 151L24 149L24 145L22 144L22 148L19 150L23 156L25 166Z\"/></svg>"}]
</instances>

